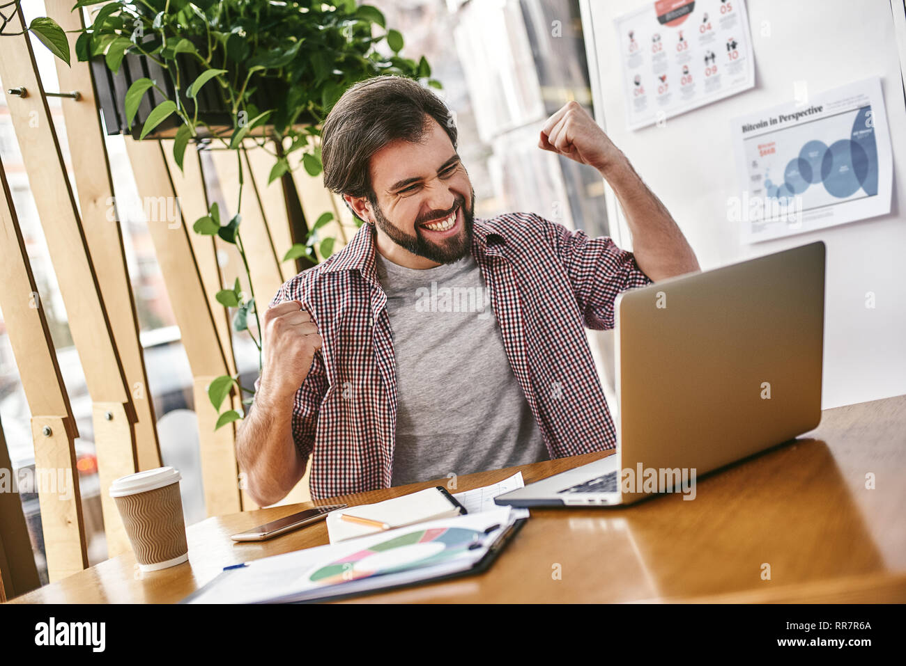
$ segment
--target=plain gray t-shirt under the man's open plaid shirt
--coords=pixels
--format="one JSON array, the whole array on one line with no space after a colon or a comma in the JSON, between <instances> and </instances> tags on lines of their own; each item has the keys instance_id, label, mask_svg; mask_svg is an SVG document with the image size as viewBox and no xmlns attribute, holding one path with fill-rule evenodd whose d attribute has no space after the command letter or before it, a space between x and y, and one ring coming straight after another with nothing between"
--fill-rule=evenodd
<instances>
[{"instance_id":1,"label":"plain gray t-shirt under the man's open plaid shirt","mask_svg":"<svg viewBox=\"0 0 906 666\"><path fill-rule=\"evenodd\" d=\"M396 357L392 485L550 460L475 258L419 271L375 255Z\"/></svg>"}]
</instances>

